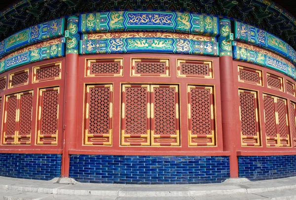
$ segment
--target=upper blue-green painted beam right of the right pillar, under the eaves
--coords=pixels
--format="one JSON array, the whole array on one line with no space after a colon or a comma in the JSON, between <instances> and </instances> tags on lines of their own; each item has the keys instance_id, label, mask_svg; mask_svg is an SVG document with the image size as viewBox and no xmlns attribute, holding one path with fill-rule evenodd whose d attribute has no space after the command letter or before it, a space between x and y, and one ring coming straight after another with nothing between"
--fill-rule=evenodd
<instances>
[{"instance_id":1,"label":"upper blue-green painted beam right of the right pillar, under the eaves","mask_svg":"<svg viewBox=\"0 0 296 200\"><path fill-rule=\"evenodd\" d=\"M296 64L296 51L284 40L241 22L234 22L234 39L268 49Z\"/></svg>"}]
</instances>

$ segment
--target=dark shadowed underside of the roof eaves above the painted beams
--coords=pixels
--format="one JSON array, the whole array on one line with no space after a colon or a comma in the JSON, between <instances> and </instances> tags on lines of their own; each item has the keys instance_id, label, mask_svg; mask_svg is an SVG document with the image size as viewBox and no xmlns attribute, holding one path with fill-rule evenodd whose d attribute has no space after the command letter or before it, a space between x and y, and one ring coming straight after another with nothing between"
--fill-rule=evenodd
<instances>
[{"instance_id":1,"label":"dark shadowed underside of the roof eaves above the painted beams","mask_svg":"<svg viewBox=\"0 0 296 200\"><path fill-rule=\"evenodd\" d=\"M275 1L295 13L295 0ZM270 0L16 0L10 3L0 12L0 40L35 24L74 13L161 9L210 13L241 20L276 35L296 49L295 17Z\"/></svg>"}]
</instances>

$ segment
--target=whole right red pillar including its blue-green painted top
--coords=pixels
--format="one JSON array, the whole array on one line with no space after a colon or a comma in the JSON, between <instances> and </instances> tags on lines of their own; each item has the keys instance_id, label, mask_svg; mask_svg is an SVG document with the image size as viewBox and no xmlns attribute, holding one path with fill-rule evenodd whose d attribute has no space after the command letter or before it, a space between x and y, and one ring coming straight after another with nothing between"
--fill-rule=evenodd
<instances>
[{"instance_id":1,"label":"whole right red pillar including its blue-green painted top","mask_svg":"<svg viewBox=\"0 0 296 200\"><path fill-rule=\"evenodd\" d=\"M223 150L230 152L230 178L238 177L238 159L236 141L240 133L236 132L237 121L234 113L235 91L232 69L232 34L230 20L220 19L220 85L222 107Z\"/></svg>"}]
</instances>

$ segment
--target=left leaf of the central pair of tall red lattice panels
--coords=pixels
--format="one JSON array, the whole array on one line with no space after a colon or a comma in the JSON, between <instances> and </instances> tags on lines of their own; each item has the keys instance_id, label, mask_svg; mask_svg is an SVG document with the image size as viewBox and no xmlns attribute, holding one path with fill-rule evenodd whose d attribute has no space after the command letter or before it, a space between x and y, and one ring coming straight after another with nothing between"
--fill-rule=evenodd
<instances>
[{"instance_id":1,"label":"left leaf of the central pair of tall red lattice panels","mask_svg":"<svg viewBox=\"0 0 296 200\"><path fill-rule=\"evenodd\" d=\"M150 145L150 85L122 85L121 145Z\"/></svg>"}]
</instances>

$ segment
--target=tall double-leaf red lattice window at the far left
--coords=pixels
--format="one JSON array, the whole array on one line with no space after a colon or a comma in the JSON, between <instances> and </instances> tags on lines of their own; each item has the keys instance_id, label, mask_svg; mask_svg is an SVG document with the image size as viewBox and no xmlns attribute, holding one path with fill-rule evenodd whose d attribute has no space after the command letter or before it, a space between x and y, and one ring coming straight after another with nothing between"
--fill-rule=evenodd
<instances>
[{"instance_id":1,"label":"tall double-leaf red lattice window at the far left","mask_svg":"<svg viewBox=\"0 0 296 200\"><path fill-rule=\"evenodd\" d=\"M5 97L3 144L31 144L33 91Z\"/></svg>"}]
</instances>

